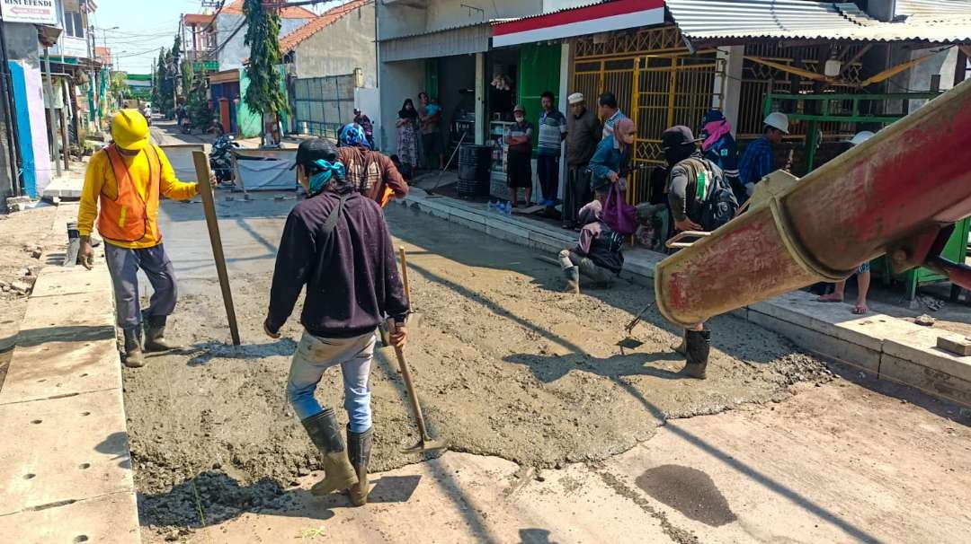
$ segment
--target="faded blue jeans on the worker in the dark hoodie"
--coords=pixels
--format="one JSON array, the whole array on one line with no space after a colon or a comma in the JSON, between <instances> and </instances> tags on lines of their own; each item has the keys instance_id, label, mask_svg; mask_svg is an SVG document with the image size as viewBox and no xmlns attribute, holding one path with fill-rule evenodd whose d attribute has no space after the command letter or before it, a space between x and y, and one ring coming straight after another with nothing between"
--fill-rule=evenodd
<instances>
[{"instance_id":1,"label":"faded blue jeans on the worker in the dark hoodie","mask_svg":"<svg viewBox=\"0 0 971 544\"><path fill-rule=\"evenodd\" d=\"M290 364L286 399L301 420L322 411L314 392L327 368L341 366L344 376L344 409L351 420L351 432L371 429L371 358L375 334L352 338L321 338L304 331Z\"/></svg>"}]
</instances>

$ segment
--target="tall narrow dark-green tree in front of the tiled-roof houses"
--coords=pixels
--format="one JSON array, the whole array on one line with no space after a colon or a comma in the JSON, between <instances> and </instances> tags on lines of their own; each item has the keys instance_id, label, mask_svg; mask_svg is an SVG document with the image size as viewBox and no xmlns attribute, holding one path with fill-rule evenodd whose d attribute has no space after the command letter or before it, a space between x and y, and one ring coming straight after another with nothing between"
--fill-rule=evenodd
<instances>
[{"instance_id":1,"label":"tall narrow dark-green tree in front of the tiled-roof houses","mask_svg":"<svg viewBox=\"0 0 971 544\"><path fill-rule=\"evenodd\" d=\"M281 88L277 66L283 63L280 50L280 15L263 8L262 0L246 0L246 40L250 46L250 64L246 68L250 86L243 97L253 112L286 112L286 96Z\"/></svg>"}]
</instances>

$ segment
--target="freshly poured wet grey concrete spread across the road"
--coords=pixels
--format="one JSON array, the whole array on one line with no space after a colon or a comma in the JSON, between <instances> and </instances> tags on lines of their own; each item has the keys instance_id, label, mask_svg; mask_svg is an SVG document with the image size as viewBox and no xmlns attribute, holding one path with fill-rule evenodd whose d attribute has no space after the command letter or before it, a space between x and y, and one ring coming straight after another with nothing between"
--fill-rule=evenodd
<instances>
[{"instance_id":1,"label":"freshly poured wet grey concrete spread across the road","mask_svg":"<svg viewBox=\"0 0 971 544\"><path fill-rule=\"evenodd\" d=\"M172 336L187 349L124 374L145 523L198 525L200 507L209 523L232 517L318 468L283 389L299 325L291 319L278 341L260 328L281 214L292 204L220 203L240 348L222 343L228 333L199 208L166 204L162 230L184 293ZM454 451L537 467L599 462L650 438L666 418L785 400L793 383L830 379L787 341L732 317L712 324L710 378L683 379L683 360L670 350L677 338L656 314L634 331L642 346L617 345L631 312L649 300L646 287L563 294L558 270L525 248L397 206L387 217L412 255L424 314L408 348L415 378L432 429ZM336 370L324 376L324 404L341 405L339 383ZM417 437L385 351L372 387L374 468L419 461L399 453Z\"/></svg>"}]
</instances>

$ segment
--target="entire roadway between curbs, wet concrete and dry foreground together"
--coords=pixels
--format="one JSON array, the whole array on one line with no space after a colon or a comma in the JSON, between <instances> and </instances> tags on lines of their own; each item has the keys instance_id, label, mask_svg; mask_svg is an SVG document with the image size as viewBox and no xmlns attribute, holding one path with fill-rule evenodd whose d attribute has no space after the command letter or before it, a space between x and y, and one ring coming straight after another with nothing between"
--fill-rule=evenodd
<instances>
[{"instance_id":1,"label":"entire roadway between curbs, wet concrete and dry foreground together","mask_svg":"<svg viewBox=\"0 0 971 544\"><path fill-rule=\"evenodd\" d=\"M828 478L820 494L813 474L831 466L852 473L857 467L850 462L865 459L874 444L889 452L911 448L906 455L914 456L930 448L938 456L948 452L950 464L901 476L913 483L908 499L936 500L919 489L928 474L938 489L965 495L966 483L948 475L968 465L968 450L948 440L913 442L914 426L926 425L959 444L967 437L961 424L911 406L913 413L900 416L908 422L900 435L887 438L859 418L868 407L861 399L879 396L832 382L820 362L730 316L713 326L712 378L679 379L682 363L668 350L676 336L656 315L635 330L644 345L617 345L647 288L563 295L555 291L558 271L530 251L397 207L388 211L389 225L412 251L414 297L425 314L409 355L426 415L453 449L469 453L419 464L397 453L415 436L399 378L382 354L372 372L373 466L392 471L373 477L375 504L364 509L345 508L343 496L309 496L317 455L283 396L294 341L269 341L259 328L282 214L294 203L261 194L227 202L219 195L244 346L222 343L228 332L201 208L166 203L162 228L184 293L172 336L188 347L124 372L140 516L150 541L582 542L600 535L632 542L920 541L928 530L954 536L954 524L937 524L930 507L913 524L882 532L881 520L909 507L886 478ZM286 336L298 331L291 319ZM339 380L336 371L324 376L320 400L340 404ZM790 399L793 392L799 394ZM811 399L816 415L796 417L809 413L800 402ZM776 415L779 406L796 415ZM742 409L678 427L668 419L732 407ZM820 414L833 420L823 431L843 432L843 449L818 445ZM675 431L683 423L689 434ZM722 427L735 431L716 432ZM860 432L875 433L872 443L855 444ZM819 459L803 463L816 449ZM882 463L904 467L894 456ZM876 498L847 508L859 486ZM769 504L791 518L781 523ZM941 512L955 524L966 520L957 506Z\"/></svg>"}]
</instances>

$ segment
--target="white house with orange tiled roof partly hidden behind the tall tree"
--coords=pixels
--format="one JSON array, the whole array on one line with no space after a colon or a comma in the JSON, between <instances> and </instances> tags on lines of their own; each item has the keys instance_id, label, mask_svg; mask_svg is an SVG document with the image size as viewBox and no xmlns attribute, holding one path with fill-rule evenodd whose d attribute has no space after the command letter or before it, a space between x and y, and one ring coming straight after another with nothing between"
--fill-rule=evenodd
<instances>
[{"instance_id":1,"label":"white house with orange tiled roof partly hidden behind the tall tree","mask_svg":"<svg viewBox=\"0 0 971 544\"><path fill-rule=\"evenodd\" d=\"M280 10L280 38L317 18L310 10L292 6ZM250 48L245 44L246 16L243 14L243 0L226 4L216 15L216 59L218 69L231 70L242 68L250 58Z\"/></svg>"}]
</instances>

